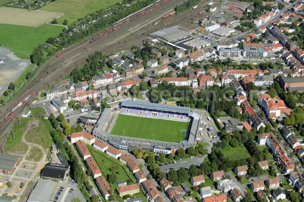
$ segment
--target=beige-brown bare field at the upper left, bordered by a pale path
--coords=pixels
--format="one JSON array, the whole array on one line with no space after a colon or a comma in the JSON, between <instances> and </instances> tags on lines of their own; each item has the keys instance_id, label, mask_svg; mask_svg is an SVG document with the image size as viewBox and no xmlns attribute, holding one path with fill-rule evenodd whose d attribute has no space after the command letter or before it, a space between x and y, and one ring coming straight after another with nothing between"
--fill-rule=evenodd
<instances>
[{"instance_id":1,"label":"beige-brown bare field at the upper left, bordered by a pale path","mask_svg":"<svg viewBox=\"0 0 304 202\"><path fill-rule=\"evenodd\" d=\"M40 12L23 8L1 7L0 24L38 27L60 15L62 14L56 12Z\"/></svg>"}]
</instances>

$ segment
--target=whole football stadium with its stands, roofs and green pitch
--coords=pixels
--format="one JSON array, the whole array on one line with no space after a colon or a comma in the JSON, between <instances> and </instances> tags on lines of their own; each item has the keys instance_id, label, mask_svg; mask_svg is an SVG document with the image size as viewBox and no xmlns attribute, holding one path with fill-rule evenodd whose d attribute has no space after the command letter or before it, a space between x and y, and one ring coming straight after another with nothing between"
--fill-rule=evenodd
<instances>
[{"instance_id":1,"label":"whole football stadium with its stands, roofs and green pitch","mask_svg":"<svg viewBox=\"0 0 304 202\"><path fill-rule=\"evenodd\" d=\"M93 135L119 149L188 148L195 146L200 120L189 107L123 100L104 110Z\"/></svg>"}]
</instances>

